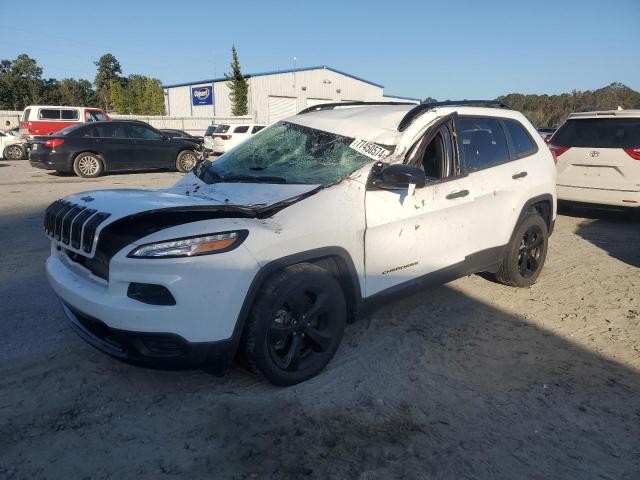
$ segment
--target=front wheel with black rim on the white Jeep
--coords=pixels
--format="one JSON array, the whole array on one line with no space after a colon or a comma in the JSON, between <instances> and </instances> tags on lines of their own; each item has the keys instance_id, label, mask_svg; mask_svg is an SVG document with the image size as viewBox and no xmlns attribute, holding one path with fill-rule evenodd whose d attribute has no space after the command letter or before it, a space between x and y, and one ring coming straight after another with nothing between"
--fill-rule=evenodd
<instances>
[{"instance_id":1,"label":"front wheel with black rim on the white Jeep","mask_svg":"<svg viewBox=\"0 0 640 480\"><path fill-rule=\"evenodd\" d=\"M314 377L335 354L347 318L338 280L309 263L292 265L265 282L249 314L242 353L275 385Z\"/></svg>"}]
</instances>

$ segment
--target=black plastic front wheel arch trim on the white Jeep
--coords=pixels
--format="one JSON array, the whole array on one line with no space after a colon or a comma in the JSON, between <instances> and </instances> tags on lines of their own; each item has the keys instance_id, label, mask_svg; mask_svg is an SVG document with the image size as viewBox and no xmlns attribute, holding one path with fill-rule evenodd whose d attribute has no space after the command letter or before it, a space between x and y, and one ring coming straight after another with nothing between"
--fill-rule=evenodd
<instances>
[{"instance_id":1,"label":"black plastic front wheel arch trim on the white Jeep","mask_svg":"<svg viewBox=\"0 0 640 480\"><path fill-rule=\"evenodd\" d=\"M247 294L245 295L233 330L232 340L234 344L234 351L237 350L237 347L240 344L246 320L261 287L274 273L282 270L283 268L299 263L311 263L318 265L334 275L340 282L345 294L348 318L355 319L362 315L364 312L364 302L362 299L358 273L351 256L344 248L323 247L308 250L306 252L295 253L293 255L287 255L286 257L272 260L262 266L253 277L253 281L247 290Z\"/></svg>"}]
</instances>

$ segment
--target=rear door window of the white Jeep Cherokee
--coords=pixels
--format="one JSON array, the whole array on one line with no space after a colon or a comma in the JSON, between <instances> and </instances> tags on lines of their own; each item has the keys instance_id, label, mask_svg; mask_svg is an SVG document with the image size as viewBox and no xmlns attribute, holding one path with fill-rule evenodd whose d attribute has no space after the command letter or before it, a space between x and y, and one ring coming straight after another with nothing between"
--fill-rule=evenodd
<instances>
[{"instance_id":1,"label":"rear door window of the white Jeep Cherokee","mask_svg":"<svg viewBox=\"0 0 640 480\"><path fill-rule=\"evenodd\" d=\"M497 118L460 117L458 132L462 167L466 173L510 160L507 137Z\"/></svg>"}]
</instances>

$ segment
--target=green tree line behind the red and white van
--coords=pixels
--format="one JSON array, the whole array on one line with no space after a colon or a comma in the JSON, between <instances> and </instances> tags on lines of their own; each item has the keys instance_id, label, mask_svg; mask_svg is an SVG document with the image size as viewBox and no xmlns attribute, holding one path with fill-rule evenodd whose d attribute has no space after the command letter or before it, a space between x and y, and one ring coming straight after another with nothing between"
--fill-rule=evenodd
<instances>
[{"instance_id":1,"label":"green tree line behind the red and white van","mask_svg":"<svg viewBox=\"0 0 640 480\"><path fill-rule=\"evenodd\" d=\"M97 61L93 82L86 79L43 78L42 67L27 54L0 60L0 110L23 110L27 105L100 107L105 111L164 115L160 81L139 74L121 76L122 67L110 53Z\"/></svg>"}]
</instances>

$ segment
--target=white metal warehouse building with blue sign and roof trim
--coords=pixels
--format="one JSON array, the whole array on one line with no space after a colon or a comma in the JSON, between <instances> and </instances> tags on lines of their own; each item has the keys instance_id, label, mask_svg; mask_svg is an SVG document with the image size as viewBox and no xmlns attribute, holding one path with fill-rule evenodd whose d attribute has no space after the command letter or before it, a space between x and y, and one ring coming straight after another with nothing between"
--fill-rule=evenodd
<instances>
[{"instance_id":1,"label":"white metal warehouse building with blue sign and roof trim","mask_svg":"<svg viewBox=\"0 0 640 480\"><path fill-rule=\"evenodd\" d=\"M249 83L249 116L270 124L300 110L327 102L402 101L417 98L384 94L384 87L326 65L245 75ZM165 108L170 117L231 117L229 82L214 78L165 85Z\"/></svg>"}]
</instances>

